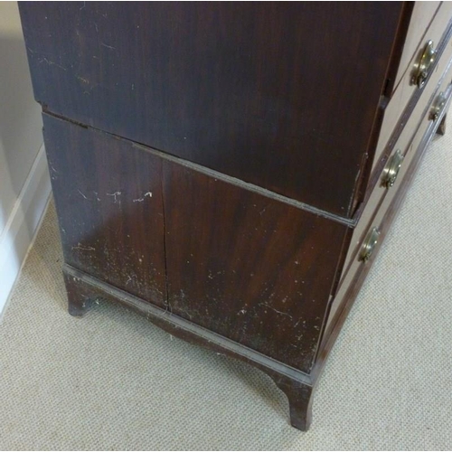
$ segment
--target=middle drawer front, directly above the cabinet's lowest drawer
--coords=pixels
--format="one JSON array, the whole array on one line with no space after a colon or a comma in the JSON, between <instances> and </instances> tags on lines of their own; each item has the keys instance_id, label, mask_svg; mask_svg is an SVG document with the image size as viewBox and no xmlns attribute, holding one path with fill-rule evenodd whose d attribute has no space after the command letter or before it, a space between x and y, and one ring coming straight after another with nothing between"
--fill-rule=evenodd
<instances>
[{"instance_id":1,"label":"middle drawer front, directly above the cabinet's lowest drawer","mask_svg":"<svg viewBox=\"0 0 452 452\"><path fill-rule=\"evenodd\" d=\"M449 44L449 46L451 46ZM425 137L428 130L430 130L430 127L432 127L432 123L436 122L433 120L432 116L432 108L436 107L438 105L438 93L447 88L448 83L450 82L450 75L451 75L451 69L452 69L452 61L448 61L448 65L445 68L445 72L443 73L443 77L441 78L441 84L436 87L436 91L433 95L430 95L427 102L424 102L422 99L422 102L418 103L418 107L421 105L424 106L424 111L422 112L422 120L419 125L415 124L415 118L410 118L409 123L407 124L407 127L404 128L402 134L400 134L400 138L393 146L391 156L388 159L387 165L381 169L378 174L375 173L372 177L372 194L369 196L368 201L363 205L362 212L358 212L357 216L360 219L358 221L358 224L353 231L352 240L350 242L350 248L347 252L345 261L344 261L344 268L342 271L342 275L340 280L344 278L344 275L347 272L347 269L350 266L350 263L353 259L353 257L356 255L358 248L361 246L361 243L363 242L364 235L367 233L368 227L367 223L370 221L375 214L375 212L379 209L379 206L383 200L383 198L386 196L390 196L397 192L397 186L398 186L398 179L402 177L402 174L404 173L403 168L406 168L410 165L410 160L413 157L412 149L418 149L420 143L422 142L423 138ZM427 94L427 92L424 92L424 94ZM425 107L427 105L427 107ZM417 130L417 132L414 134L414 137L412 136L412 131ZM397 155L403 155L403 161L401 162L400 166L400 174L397 174L396 183L392 186L388 186L387 184L387 177L388 177L388 168L392 164L395 164L397 162ZM390 194L391 193L391 194Z\"/></svg>"}]
</instances>

